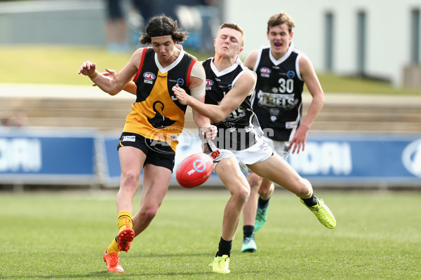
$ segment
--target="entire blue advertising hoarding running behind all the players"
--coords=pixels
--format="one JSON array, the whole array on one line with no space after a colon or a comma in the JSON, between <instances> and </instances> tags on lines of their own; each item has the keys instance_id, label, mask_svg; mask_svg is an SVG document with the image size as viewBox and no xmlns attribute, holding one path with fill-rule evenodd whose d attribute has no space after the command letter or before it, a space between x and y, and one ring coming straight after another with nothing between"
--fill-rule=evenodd
<instances>
[{"instance_id":1,"label":"entire blue advertising hoarding running behind all the players","mask_svg":"<svg viewBox=\"0 0 421 280\"><path fill-rule=\"evenodd\" d=\"M0 183L119 186L120 132L0 129ZM175 170L201 153L197 130L178 138ZM305 151L288 162L314 186L421 187L421 134L311 133ZM222 186L215 173L205 183Z\"/></svg>"}]
</instances>

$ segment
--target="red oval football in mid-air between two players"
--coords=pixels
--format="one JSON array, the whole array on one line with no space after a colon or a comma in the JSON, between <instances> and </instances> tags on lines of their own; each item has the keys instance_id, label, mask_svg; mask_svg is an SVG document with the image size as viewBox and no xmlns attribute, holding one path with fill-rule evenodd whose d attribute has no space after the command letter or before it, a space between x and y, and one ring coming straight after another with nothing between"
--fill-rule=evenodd
<instances>
[{"instance_id":1,"label":"red oval football in mid-air between two players","mask_svg":"<svg viewBox=\"0 0 421 280\"><path fill-rule=\"evenodd\" d=\"M178 165L175 178L185 188L199 186L209 179L213 169L213 160L206 153L189 155Z\"/></svg>"}]
</instances>

